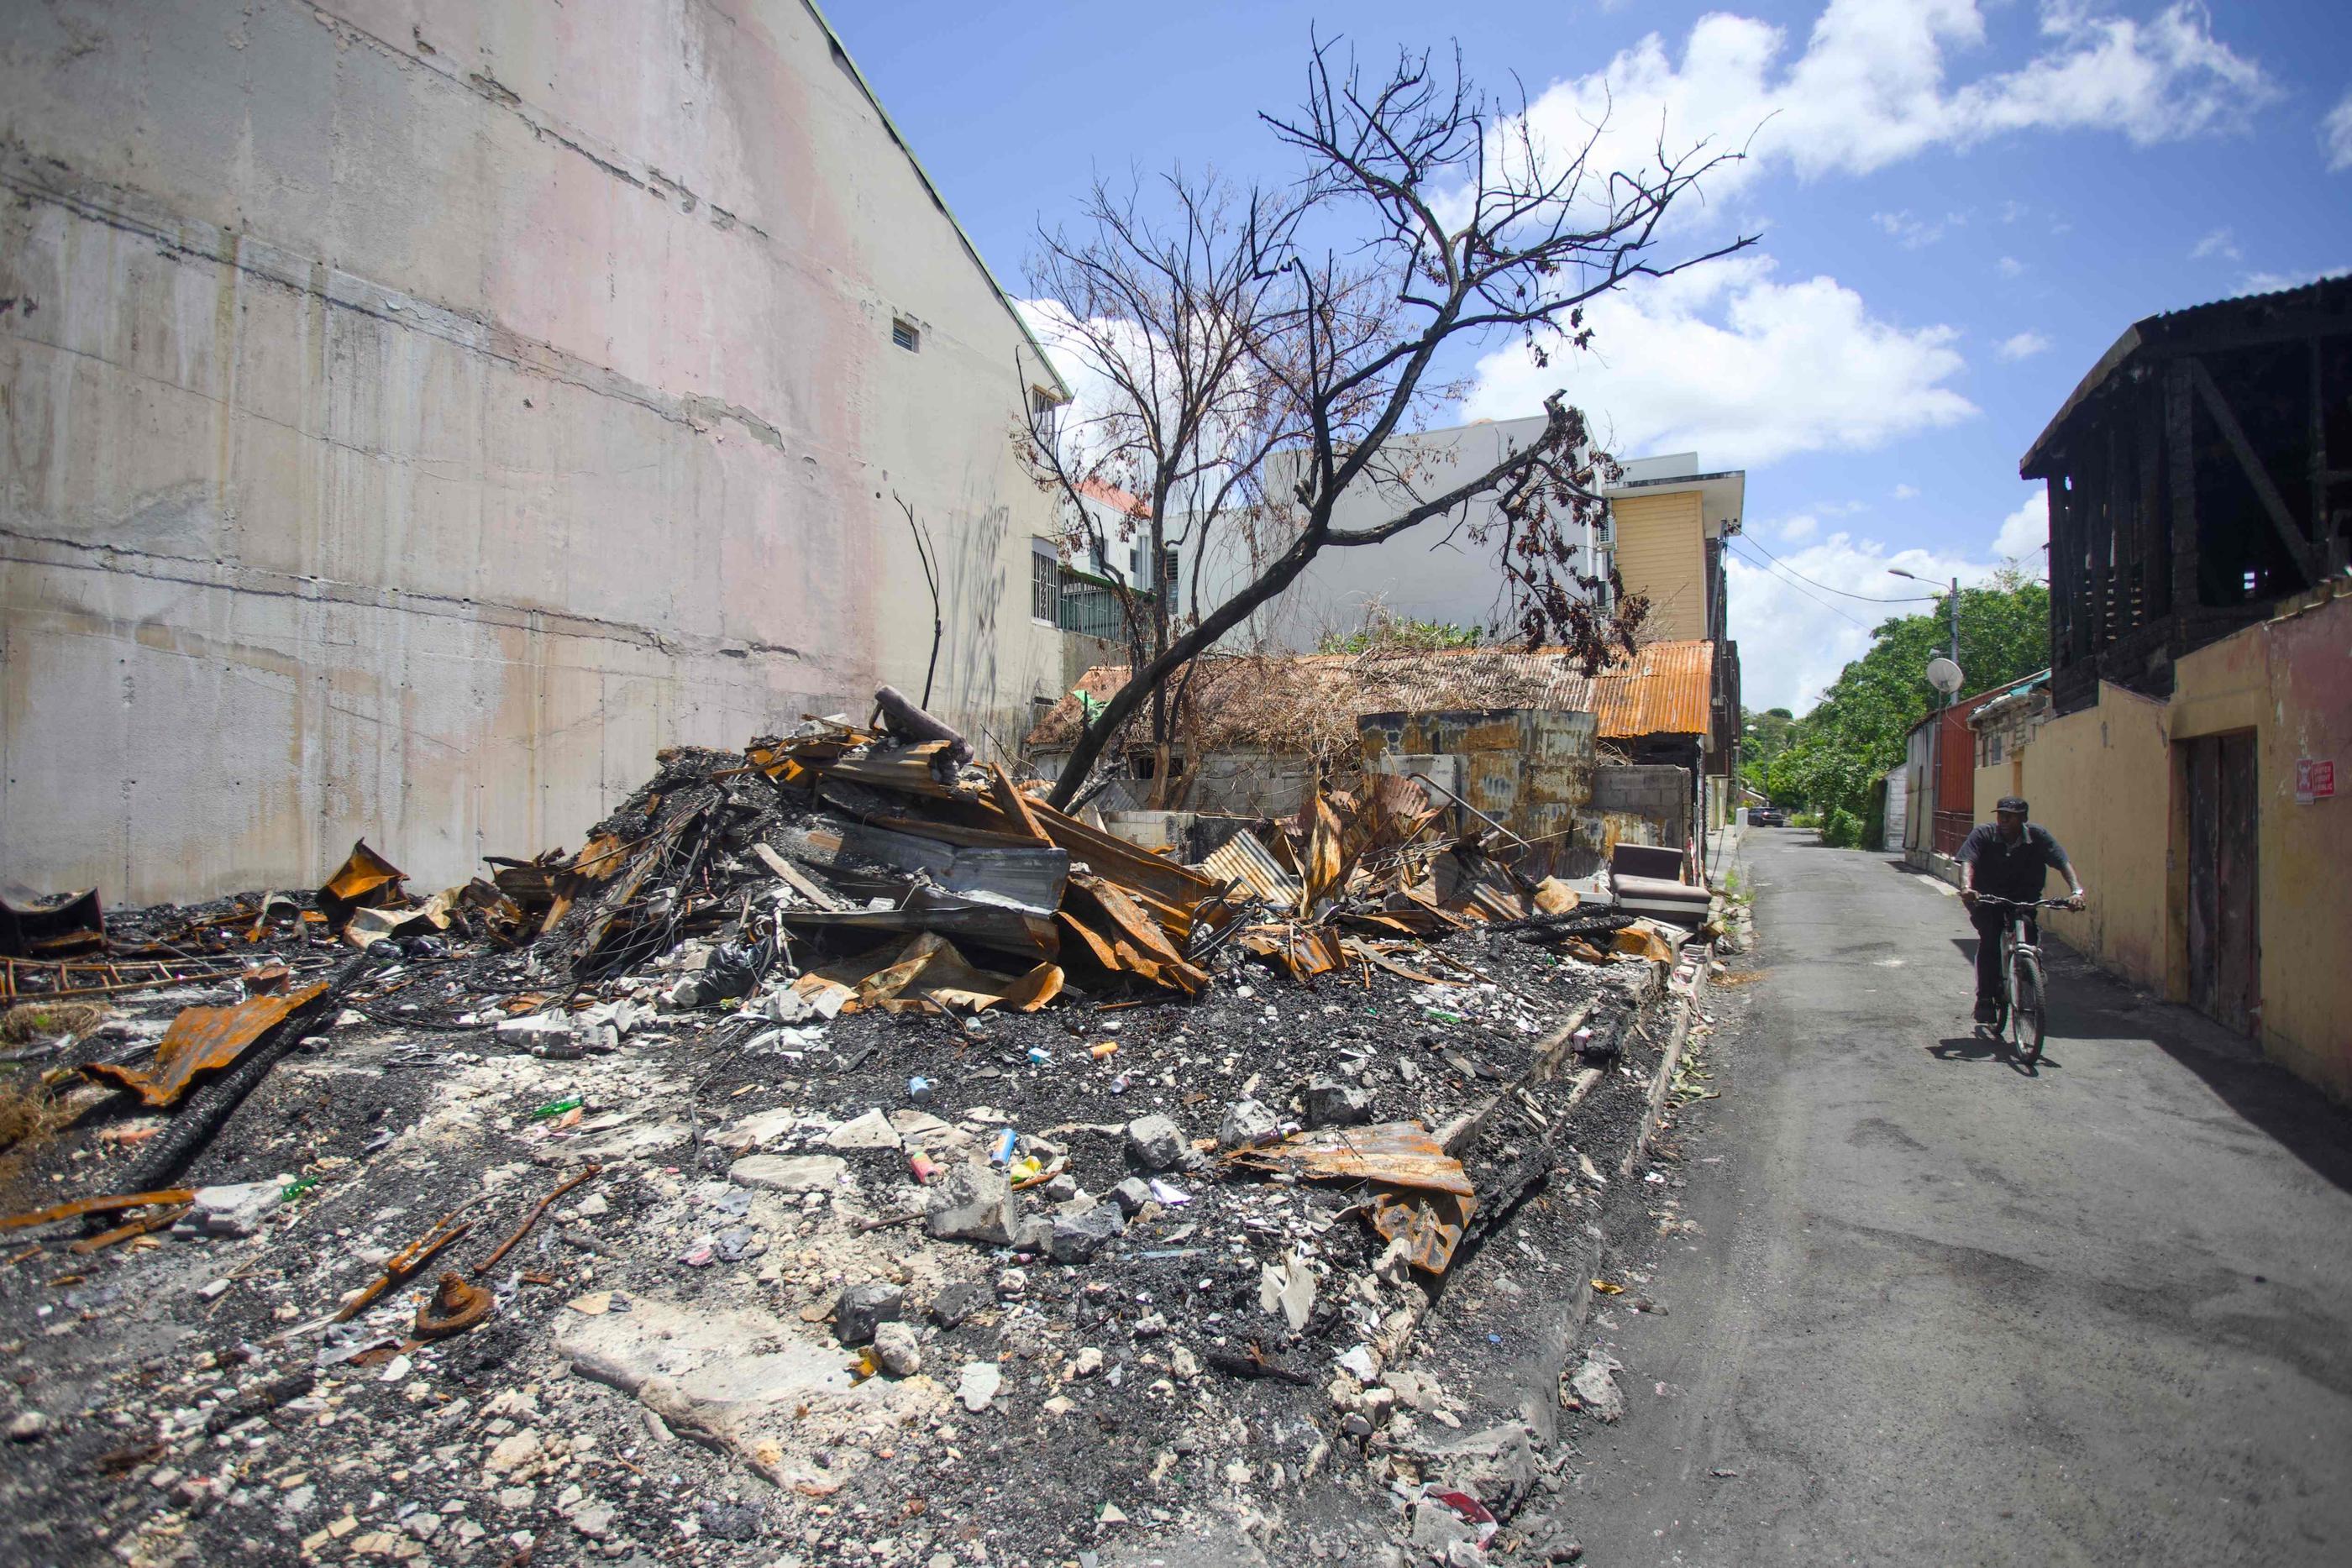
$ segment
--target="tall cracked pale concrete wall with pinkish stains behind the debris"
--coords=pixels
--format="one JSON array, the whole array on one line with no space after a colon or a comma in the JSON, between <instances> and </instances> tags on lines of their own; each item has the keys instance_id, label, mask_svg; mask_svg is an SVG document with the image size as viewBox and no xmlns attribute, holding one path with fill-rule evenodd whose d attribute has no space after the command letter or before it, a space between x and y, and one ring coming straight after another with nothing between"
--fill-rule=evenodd
<instances>
[{"instance_id":1,"label":"tall cracked pale concrete wall with pinkish stains behind the debris","mask_svg":"<svg viewBox=\"0 0 2352 1568\"><path fill-rule=\"evenodd\" d=\"M659 745L1016 738L1044 381L800 0L0 12L0 872L576 844ZM891 320L922 329L908 353Z\"/></svg>"}]
</instances>

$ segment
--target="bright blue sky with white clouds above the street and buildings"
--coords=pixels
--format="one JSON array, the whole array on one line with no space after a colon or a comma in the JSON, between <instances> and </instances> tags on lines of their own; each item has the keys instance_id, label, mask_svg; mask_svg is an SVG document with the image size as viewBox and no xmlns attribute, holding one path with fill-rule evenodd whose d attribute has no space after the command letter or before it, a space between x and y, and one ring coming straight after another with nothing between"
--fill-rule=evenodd
<instances>
[{"instance_id":1,"label":"bright blue sky with white clouds above the street and buildings","mask_svg":"<svg viewBox=\"0 0 2352 1568\"><path fill-rule=\"evenodd\" d=\"M1891 564L2042 571L2018 456L2133 320L2352 270L2352 5L1677 0L837 7L858 66L1016 294L1096 174L1294 165L1308 28L1385 59L1458 40L1541 132L1611 108L1748 141L1686 242L1762 242L1595 313L1592 355L1477 367L1465 414L1566 381L1621 456L1748 468L1731 630L1748 705L1809 705L1900 595ZM1771 564L1778 557L1780 564ZM1792 576L1795 574L1795 576ZM1799 581L1809 578L1809 581Z\"/></svg>"}]
</instances>

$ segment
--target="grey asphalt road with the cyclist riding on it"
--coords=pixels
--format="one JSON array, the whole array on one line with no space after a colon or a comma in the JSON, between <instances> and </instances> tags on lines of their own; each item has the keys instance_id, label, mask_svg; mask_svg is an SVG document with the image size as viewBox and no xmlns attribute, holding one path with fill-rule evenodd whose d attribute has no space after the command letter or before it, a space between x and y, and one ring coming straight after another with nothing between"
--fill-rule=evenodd
<instances>
[{"instance_id":1,"label":"grey asphalt road with the cyclist riding on it","mask_svg":"<svg viewBox=\"0 0 2352 1568\"><path fill-rule=\"evenodd\" d=\"M1585 1561L2352 1563L2352 1121L2079 961L2025 1074L1959 900L1811 839L1743 849L1769 973L1710 1004L1668 1316L1599 1314Z\"/></svg>"}]
</instances>

